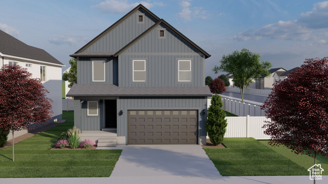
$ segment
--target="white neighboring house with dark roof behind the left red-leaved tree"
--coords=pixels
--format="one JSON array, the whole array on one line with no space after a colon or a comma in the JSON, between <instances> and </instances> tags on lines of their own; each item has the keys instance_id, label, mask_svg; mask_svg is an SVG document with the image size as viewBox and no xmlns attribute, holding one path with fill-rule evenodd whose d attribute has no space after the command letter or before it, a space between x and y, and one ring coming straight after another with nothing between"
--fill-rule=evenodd
<instances>
[{"instance_id":1,"label":"white neighboring house with dark roof behind the left red-leaved tree","mask_svg":"<svg viewBox=\"0 0 328 184\"><path fill-rule=\"evenodd\" d=\"M53 100L50 123L61 120L61 67L65 65L45 50L27 45L2 30L0 40L0 67L4 64L20 65L27 68L33 78L41 79L50 92L47 97Z\"/></svg>"}]
</instances>

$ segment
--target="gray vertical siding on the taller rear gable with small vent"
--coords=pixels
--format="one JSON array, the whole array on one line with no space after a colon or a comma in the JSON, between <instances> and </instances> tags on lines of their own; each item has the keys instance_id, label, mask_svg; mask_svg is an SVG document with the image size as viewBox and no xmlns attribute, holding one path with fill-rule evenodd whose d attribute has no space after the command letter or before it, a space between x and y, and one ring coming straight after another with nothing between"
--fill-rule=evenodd
<instances>
[{"instance_id":1,"label":"gray vertical siding on the taller rear gable with small vent","mask_svg":"<svg viewBox=\"0 0 328 184\"><path fill-rule=\"evenodd\" d=\"M145 14L139 9L125 20L120 22L115 28L100 37L93 44L84 50L84 52L116 52L139 36L142 32L155 24L155 19L148 15L144 16L144 23L137 22L137 16Z\"/></svg>"}]
</instances>

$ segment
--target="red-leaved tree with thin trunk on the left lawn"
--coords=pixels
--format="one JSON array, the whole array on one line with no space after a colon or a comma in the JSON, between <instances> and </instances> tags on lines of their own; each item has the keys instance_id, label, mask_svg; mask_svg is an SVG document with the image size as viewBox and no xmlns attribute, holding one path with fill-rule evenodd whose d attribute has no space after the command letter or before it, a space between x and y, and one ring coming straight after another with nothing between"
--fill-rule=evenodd
<instances>
[{"instance_id":1,"label":"red-leaved tree with thin trunk on the left lawn","mask_svg":"<svg viewBox=\"0 0 328 184\"><path fill-rule=\"evenodd\" d=\"M12 160L14 131L34 129L51 119L49 93L40 79L33 79L26 68L5 64L0 70L0 128L12 132Z\"/></svg>"}]
</instances>

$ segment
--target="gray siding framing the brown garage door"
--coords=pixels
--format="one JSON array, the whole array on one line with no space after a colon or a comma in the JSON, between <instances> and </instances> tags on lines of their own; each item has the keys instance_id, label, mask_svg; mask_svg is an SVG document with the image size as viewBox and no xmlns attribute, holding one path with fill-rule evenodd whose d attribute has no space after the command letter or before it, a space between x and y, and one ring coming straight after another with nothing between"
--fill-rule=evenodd
<instances>
[{"instance_id":1,"label":"gray siding framing the brown garage door","mask_svg":"<svg viewBox=\"0 0 328 184\"><path fill-rule=\"evenodd\" d=\"M128 132L128 110L198 110L199 136L206 136L205 121L206 114L202 115L202 110L207 110L206 97L119 97L117 99L117 113L122 110L123 114L117 116L117 136L127 136Z\"/></svg>"}]
</instances>

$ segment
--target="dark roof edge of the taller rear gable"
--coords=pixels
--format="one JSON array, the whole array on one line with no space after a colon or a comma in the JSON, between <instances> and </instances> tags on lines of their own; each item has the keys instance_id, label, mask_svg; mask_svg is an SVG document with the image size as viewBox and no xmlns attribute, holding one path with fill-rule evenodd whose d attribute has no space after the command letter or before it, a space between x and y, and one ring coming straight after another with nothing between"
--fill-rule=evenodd
<instances>
[{"instance_id":1,"label":"dark roof edge of the taller rear gable","mask_svg":"<svg viewBox=\"0 0 328 184\"><path fill-rule=\"evenodd\" d=\"M81 49L79 49L78 51L76 51L74 54L78 54L81 51L83 51L84 49L86 49L87 47L89 47L93 42L95 42L96 40L98 40L101 36L105 35L106 33L108 33L109 31L111 31L113 28L115 28L121 21L125 20L127 17L129 17L132 13L134 13L135 11L142 9L144 11L146 11L148 14L150 14L151 16L153 16L157 21L160 20L160 18L158 16L156 16L153 12L149 11L146 7L144 7L143 5L138 5L137 7L135 7L134 9L132 9L129 13L127 13L126 15L124 15L122 18L120 18L119 20L117 20L112 26L110 26L109 28L107 28L105 31L103 31L102 33L100 33L98 36L96 36L95 38L93 38L91 41L89 41L86 45L84 45ZM74 57L74 54L70 55L71 57ZM104 55L103 55L104 56ZM106 55L108 56L108 55ZM76 56L75 56L76 57ZM102 57L102 56L99 56Z\"/></svg>"}]
</instances>

